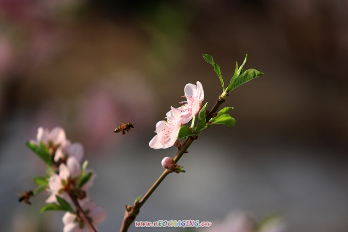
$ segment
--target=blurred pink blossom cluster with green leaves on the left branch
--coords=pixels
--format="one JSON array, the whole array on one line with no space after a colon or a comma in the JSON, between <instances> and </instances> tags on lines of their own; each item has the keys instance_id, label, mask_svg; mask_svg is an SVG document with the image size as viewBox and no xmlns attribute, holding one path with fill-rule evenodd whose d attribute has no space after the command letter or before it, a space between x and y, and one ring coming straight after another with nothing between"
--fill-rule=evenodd
<instances>
[{"instance_id":1,"label":"blurred pink blossom cluster with green leaves on the left branch","mask_svg":"<svg viewBox=\"0 0 348 232\"><path fill-rule=\"evenodd\" d=\"M46 210L68 211L63 216L64 232L89 231L82 217L82 212L73 210L73 202L81 206L85 218L94 228L106 219L106 211L89 201L87 190L92 186L95 174L86 169L87 161L81 166L84 148L80 143L67 140L63 128L55 127L51 131L40 127L37 141L30 141L27 146L42 158L48 166L48 175L34 177L40 184L34 195L46 190L50 196L41 212ZM41 186L41 188L40 188ZM77 206L77 205L76 205Z\"/></svg>"}]
</instances>

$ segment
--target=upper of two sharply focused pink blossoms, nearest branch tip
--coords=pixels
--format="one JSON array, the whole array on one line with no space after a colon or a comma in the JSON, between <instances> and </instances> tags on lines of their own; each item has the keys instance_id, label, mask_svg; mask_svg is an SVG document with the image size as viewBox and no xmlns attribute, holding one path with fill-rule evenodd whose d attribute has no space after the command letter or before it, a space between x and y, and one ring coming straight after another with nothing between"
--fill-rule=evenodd
<instances>
[{"instance_id":1,"label":"upper of two sharply focused pink blossoms, nearest branch tip","mask_svg":"<svg viewBox=\"0 0 348 232\"><path fill-rule=\"evenodd\" d=\"M197 85L188 83L185 85L186 101L180 103L186 103L179 107L181 113L180 122L185 124L188 123L194 115L199 112L202 101L204 100L204 90L201 82L197 81Z\"/></svg>"}]
</instances>

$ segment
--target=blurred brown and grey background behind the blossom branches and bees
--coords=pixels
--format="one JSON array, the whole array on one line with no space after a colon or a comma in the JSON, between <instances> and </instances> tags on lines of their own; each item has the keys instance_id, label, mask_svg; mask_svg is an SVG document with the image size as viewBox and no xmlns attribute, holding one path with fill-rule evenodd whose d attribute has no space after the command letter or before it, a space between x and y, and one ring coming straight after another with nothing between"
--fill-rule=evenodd
<instances>
[{"instance_id":1,"label":"blurred brown and grey background behind the blossom branches and bees","mask_svg":"<svg viewBox=\"0 0 348 232\"><path fill-rule=\"evenodd\" d=\"M0 0L0 231L63 231L62 212L39 214L47 196L17 202L45 172L23 144L39 126L85 146L90 198L108 212L99 231L118 231L176 154L148 143L185 84L200 81L210 107L221 94L201 54L229 82L248 53L245 68L265 75L224 103L236 126L204 131L137 221L217 231L236 210L277 212L287 232L347 232L347 12L347 0ZM117 119L135 129L114 134Z\"/></svg>"}]
</instances>

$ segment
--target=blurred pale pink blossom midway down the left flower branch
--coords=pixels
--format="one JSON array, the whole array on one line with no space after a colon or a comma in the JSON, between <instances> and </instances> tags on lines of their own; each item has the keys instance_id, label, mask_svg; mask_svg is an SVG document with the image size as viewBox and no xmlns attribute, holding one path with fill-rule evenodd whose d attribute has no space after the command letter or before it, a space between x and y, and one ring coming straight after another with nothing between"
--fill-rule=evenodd
<instances>
[{"instance_id":1,"label":"blurred pale pink blossom midway down the left flower branch","mask_svg":"<svg viewBox=\"0 0 348 232\"><path fill-rule=\"evenodd\" d=\"M56 195L70 201L67 190L70 188L70 185L75 186L80 172L81 165L73 156L68 158L67 165L64 163L59 165L59 174L51 175L48 180L51 195L46 199L46 203L57 202Z\"/></svg>"}]
</instances>

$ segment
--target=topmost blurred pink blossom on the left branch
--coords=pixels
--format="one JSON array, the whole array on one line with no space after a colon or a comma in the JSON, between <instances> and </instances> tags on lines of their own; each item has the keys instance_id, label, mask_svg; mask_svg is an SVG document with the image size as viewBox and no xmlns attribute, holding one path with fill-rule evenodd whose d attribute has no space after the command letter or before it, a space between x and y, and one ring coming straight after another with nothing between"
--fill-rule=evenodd
<instances>
[{"instance_id":1,"label":"topmost blurred pink blossom on the left branch","mask_svg":"<svg viewBox=\"0 0 348 232\"><path fill-rule=\"evenodd\" d=\"M58 147L64 143L66 143L65 131L61 127L55 127L51 131L49 129L43 129L43 127L39 127L37 129L36 135L37 141L30 141L33 144L40 144L42 142L47 147Z\"/></svg>"}]
</instances>

